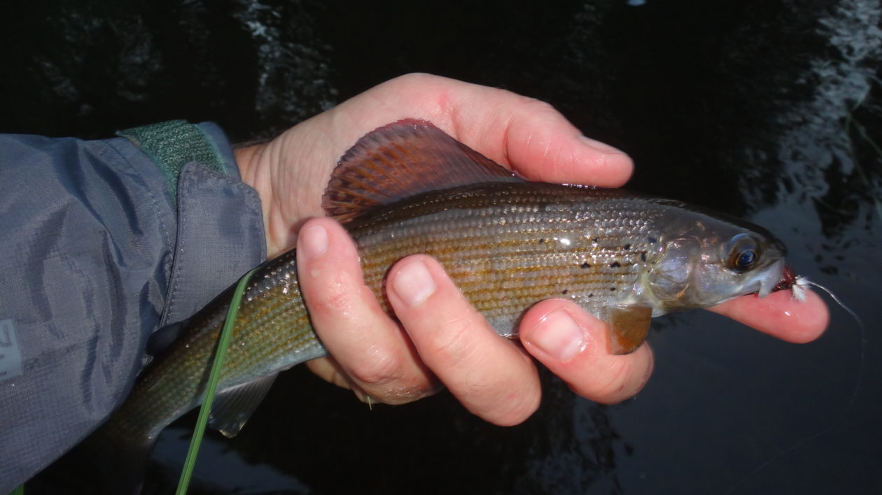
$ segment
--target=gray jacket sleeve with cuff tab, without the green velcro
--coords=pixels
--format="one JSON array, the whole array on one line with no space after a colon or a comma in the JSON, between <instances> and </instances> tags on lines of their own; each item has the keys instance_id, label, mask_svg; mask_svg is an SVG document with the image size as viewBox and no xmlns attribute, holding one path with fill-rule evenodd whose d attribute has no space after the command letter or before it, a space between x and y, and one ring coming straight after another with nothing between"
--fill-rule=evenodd
<instances>
[{"instance_id":1,"label":"gray jacket sleeve with cuff tab, without the green velcro","mask_svg":"<svg viewBox=\"0 0 882 495\"><path fill-rule=\"evenodd\" d=\"M153 331L264 259L258 194L194 129L226 173L191 161L176 188L123 137L0 136L0 493L122 403Z\"/></svg>"}]
</instances>

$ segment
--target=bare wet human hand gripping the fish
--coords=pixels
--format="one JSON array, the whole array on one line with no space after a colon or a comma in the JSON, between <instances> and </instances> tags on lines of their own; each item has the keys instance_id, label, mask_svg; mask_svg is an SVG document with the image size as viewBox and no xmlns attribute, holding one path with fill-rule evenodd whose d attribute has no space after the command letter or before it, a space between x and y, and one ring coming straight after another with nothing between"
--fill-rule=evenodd
<instances>
[{"instance_id":1,"label":"bare wet human hand gripping the fish","mask_svg":"<svg viewBox=\"0 0 882 495\"><path fill-rule=\"evenodd\" d=\"M649 347L609 354L606 324L571 301L549 299L531 307L520 323L521 348L490 329L437 262L413 255L396 263L387 278L400 324L385 314L363 284L347 233L330 219L308 218L324 214L321 196L348 147L408 117L433 122L534 181L617 187L632 172L624 153L580 136L545 103L427 75L393 79L269 144L237 151L243 180L261 196L269 254L298 249L310 317L333 356L310 361L310 368L384 403L407 403L442 384L468 410L498 425L517 424L538 406L541 390L530 356L594 401L615 403L636 394L652 371ZM827 318L823 302L808 295L805 303L791 301L786 292L747 296L716 310L779 338L806 342L826 328Z\"/></svg>"}]
</instances>

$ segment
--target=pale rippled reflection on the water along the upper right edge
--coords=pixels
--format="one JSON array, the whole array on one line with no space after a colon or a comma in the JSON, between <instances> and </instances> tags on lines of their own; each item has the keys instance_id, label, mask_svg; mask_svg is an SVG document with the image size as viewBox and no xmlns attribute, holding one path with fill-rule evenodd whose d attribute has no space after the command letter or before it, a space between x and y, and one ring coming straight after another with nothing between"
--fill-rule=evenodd
<instances>
[{"instance_id":1,"label":"pale rippled reflection on the water along the upper right edge","mask_svg":"<svg viewBox=\"0 0 882 495\"><path fill-rule=\"evenodd\" d=\"M874 85L878 91L882 60L879 15L878 4L851 1L818 19L816 33L826 40L826 50L804 54L808 67L796 75L797 81L811 84L811 97L790 102L774 115L774 132L765 143L774 150L772 159L783 165L779 195L813 203L807 206L817 211L828 238L856 222L869 228L872 209L867 206L879 197L879 149L867 127L878 141L874 124L879 115L871 91ZM755 199L751 188L744 190Z\"/></svg>"}]
</instances>

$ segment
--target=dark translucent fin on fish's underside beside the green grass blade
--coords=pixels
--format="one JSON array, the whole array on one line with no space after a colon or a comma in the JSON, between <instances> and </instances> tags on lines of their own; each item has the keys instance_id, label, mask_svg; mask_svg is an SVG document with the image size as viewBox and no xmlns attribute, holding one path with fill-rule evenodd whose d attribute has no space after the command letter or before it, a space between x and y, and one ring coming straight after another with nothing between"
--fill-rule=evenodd
<instances>
[{"instance_id":1,"label":"dark translucent fin on fish's underside beside the green grass blade","mask_svg":"<svg viewBox=\"0 0 882 495\"><path fill-rule=\"evenodd\" d=\"M208 425L227 438L235 437L242 431L254 410L258 409L278 374L273 373L223 389L214 397Z\"/></svg>"}]
</instances>

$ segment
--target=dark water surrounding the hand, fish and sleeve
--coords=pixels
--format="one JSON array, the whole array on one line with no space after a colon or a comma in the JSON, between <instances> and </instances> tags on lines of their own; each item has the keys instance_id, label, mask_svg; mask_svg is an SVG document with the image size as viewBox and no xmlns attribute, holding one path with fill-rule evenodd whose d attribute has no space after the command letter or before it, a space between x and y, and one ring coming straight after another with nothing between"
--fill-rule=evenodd
<instances>
[{"instance_id":1,"label":"dark water surrounding the hand, fish and sleeve","mask_svg":"<svg viewBox=\"0 0 882 495\"><path fill-rule=\"evenodd\" d=\"M772 2L64 2L5 5L0 131L107 137L163 119L272 136L410 71L548 100L631 153L630 187L752 218L833 308L785 344L696 312L654 323L656 369L616 406L546 376L498 428L447 395L368 410L284 373L194 492L882 492L882 7ZM862 360L863 354L863 360ZM184 420L149 487L168 491ZM213 479L213 481L206 481ZM38 479L29 492L77 491Z\"/></svg>"}]
</instances>

